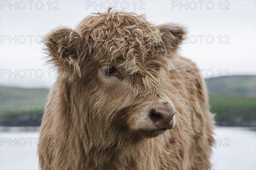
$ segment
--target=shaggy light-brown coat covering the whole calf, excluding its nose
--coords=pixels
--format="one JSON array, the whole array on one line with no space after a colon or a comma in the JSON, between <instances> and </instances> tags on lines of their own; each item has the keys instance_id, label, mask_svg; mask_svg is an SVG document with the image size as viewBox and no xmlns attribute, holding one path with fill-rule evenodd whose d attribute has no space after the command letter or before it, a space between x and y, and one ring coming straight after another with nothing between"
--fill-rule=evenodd
<instances>
[{"instance_id":1,"label":"shaggy light-brown coat covering the whole calf, excluding its nose","mask_svg":"<svg viewBox=\"0 0 256 170\"><path fill-rule=\"evenodd\" d=\"M185 33L112 11L50 33L59 77L41 125L41 169L209 169L214 121L195 107L208 102L197 67L176 54ZM172 127L159 131L150 109L174 107Z\"/></svg>"}]
</instances>

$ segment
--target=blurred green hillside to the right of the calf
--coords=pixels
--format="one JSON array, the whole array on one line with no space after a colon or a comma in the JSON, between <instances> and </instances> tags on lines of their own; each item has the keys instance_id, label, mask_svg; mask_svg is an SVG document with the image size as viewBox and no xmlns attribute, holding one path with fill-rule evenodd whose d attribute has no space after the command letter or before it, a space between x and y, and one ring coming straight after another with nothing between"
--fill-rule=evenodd
<instances>
[{"instance_id":1,"label":"blurred green hillside to the right of the calf","mask_svg":"<svg viewBox=\"0 0 256 170\"><path fill-rule=\"evenodd\" d=\"M220 126L256 126L256 76L205 79L210 111Z\"/></svg>"}]
</instances>

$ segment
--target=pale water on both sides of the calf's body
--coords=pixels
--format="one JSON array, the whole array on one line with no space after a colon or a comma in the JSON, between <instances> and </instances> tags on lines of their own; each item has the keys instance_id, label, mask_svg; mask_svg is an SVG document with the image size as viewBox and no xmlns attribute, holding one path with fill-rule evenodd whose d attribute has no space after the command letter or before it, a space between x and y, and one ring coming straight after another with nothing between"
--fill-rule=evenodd
<instances>
[{"instance_id":1,"label":"pale water on both sides of the calf's body","mask_svg":"<svg viewBox=\"0 0 256 170\"><path fill-rule=\"evenodd\" d=\"M0 130L0 169L38 169L38 128L1 127ZM215 133L213 169L256 170L256 131L241 127L217 127Z\"/></svg>"}]
</instances>

